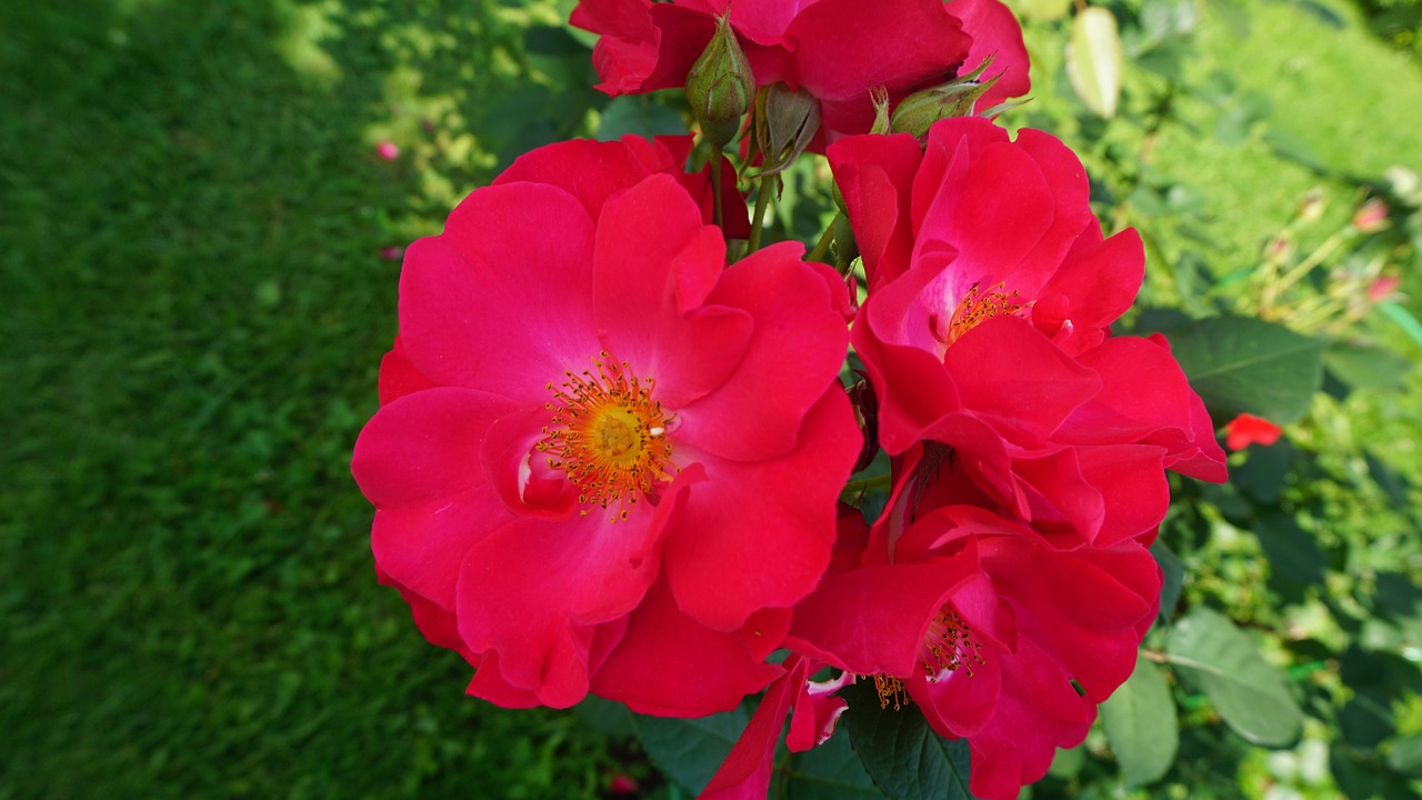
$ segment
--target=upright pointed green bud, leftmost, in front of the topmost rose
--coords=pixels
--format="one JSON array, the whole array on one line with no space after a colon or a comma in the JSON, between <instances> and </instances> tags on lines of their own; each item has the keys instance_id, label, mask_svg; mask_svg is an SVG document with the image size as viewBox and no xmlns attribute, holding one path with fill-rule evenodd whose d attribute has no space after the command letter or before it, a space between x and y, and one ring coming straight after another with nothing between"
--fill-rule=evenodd
<instances>
[{"instance_id":1,"label":"upright pointed green bud, leftmost, in front of the topmost rose","mask_svg":"<svg viewBox=\"0 0 1422 800\"><path fill-rule=\"evenodd\" d=\"M715 36L687 73L687 101L711 147L724 148L741 128L755 101L751 61L731 30L729 16L717 20Z\"/></svg>"}]
</instances>

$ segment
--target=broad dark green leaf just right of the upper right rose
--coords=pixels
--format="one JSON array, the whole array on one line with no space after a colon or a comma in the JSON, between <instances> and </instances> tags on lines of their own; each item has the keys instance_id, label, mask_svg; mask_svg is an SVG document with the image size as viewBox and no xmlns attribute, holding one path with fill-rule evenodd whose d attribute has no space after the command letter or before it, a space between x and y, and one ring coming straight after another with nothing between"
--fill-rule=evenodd
<instances>
[{"instance_id":1,"label":"broad dark green leaf just right of the upper right rose","mask_svg":"<svg viewBox=\"0 0 1422 800\"><path fill-rule=\"evenodd\" d=\"M1322 342L1281 325L1202 319L1172 335L1170 347L1219 423L1250 413L1288 424L1322 386Z\"/></svg>"}]
</instances>

